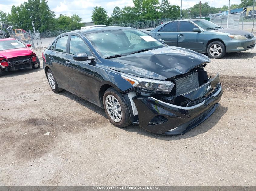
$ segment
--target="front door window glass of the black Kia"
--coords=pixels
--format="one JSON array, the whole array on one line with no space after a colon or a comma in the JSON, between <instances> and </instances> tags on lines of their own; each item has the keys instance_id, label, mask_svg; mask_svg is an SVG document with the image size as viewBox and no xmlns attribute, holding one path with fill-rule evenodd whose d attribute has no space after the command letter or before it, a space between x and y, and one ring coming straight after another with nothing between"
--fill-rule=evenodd
<instances>
[{"instance_id":1,"label":"front door window glass of the black Kia","mask_svg":"<svg viewBox=\"0 0 256 191\"><path fill-rule=\"evenodd\" d=\"M71 36L69 54L77 53L87 53L87 55L90 56L90 49L80 37Z\"/></svg>"}]
</instances>

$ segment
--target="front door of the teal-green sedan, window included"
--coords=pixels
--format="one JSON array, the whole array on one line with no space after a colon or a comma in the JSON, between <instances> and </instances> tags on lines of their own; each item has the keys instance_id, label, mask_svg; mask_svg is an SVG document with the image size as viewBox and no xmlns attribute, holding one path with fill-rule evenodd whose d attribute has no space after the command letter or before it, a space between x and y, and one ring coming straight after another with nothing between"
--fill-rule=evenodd
<instances>
[{"instance_id":1,"label":"front door of the teal-green sedan, window included","mask_svg":"<svg viewBox=\"0 0 256 191\"><path fill-rule=\"evenodd\" d=\"M204 32L193 32L193 28L198 27L191 22L180 21L178 46L197 52L203 51Z\"/></svg>"}]
</instances>

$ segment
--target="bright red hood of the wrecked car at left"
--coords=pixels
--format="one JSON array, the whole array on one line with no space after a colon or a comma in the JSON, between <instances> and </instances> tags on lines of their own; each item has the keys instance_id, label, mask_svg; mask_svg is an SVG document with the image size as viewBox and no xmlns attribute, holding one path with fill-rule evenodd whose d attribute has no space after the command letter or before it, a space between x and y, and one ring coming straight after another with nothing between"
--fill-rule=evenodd
<instances>
[{"instance_id":1,"label":"bright red hood of the wrecked car at left","mask_svg":"<svg viewBox=\"0 0 256 191\"><path fill-rule=\"evenodd\" d=\"M17 48L17 49L10 49L10 50L2 50L0 51L0 57L2 58L14 58L17 56L27 56L30 55L33 51L29 48Z\"/></svg>"}]
</instances>

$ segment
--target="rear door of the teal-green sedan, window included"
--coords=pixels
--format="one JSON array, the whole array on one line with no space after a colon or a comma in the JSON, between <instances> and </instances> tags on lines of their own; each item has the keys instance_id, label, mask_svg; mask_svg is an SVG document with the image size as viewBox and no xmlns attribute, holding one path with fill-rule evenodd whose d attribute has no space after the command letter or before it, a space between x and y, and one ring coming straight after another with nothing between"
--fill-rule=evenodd
<instances>
[{"instance_id":1,"label":"rear door of the teal-green sedan, window included","mask_svg":"<svg viewBox=\"0 0 256 191\"><path fill-rule=\"evenodd\" d=\"M164 40L165 44L169 46L178 46L177 28L178 28L178 22L170 22L165 26L163 26L157 33L155 33L155 37L157 39Z\"/></svg>"}]
</instances>

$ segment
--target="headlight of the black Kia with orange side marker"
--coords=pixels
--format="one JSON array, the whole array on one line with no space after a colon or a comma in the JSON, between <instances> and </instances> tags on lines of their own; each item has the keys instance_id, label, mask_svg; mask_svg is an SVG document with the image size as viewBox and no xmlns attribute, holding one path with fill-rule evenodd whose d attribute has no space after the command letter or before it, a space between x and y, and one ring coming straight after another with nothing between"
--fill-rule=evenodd
<instances>
[{"instance_id":1,"label":"headlight of the black Kia with orange side marker","mask_svg":"<svg viewBox=\"0 0 256 191\"><path fill-rule=\"evenodd\" d=\"M148 78L140 78L128 74L121 73L121 77L130 82L134 87L151 91L160 91L170 93L174 87L171 81L153 80Z\"/></svg>"}]
</instances>

